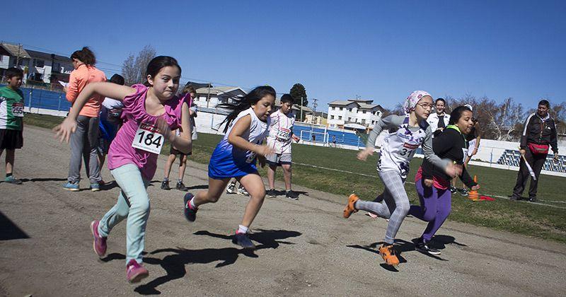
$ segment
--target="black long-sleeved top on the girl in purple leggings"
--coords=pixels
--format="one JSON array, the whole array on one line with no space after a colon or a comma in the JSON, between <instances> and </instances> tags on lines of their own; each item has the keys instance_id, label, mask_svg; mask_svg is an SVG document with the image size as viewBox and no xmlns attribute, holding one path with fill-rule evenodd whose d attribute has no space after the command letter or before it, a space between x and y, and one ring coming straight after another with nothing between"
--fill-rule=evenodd
<instances>
[{"instance_id":1,"label":"black long-sleeved top on the girl in purple leggings","mask_svg":"<svg viewBox=\"0 0 566 297\"><path fill-rule=\"evenodd\" d=\"M432 139L432 151L434 154L442 159L450 159L456 164L463 165L464 158L466 158L466 139L456 129L446 128L438 136ZM444 168L437 168L432 165L427 159L422 161L422 178L432 180L432 176L441 177L444 180L450 181L452 178L444 173ZM460 179L467 187L471 188L478 185L472 180L466 168L462 166L462 174Z\"/></svg>"}]
</instances>

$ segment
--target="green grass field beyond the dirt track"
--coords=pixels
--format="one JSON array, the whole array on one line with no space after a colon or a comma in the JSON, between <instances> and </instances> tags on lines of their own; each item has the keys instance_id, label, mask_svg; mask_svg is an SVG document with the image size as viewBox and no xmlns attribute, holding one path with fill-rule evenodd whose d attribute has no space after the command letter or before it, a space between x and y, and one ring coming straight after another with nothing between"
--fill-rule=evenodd
<instances>
[{"instance_id":1,"label":"green grass field beyond the dirt track","mask_svg":"<svg viewBox=\"0 0 566 297\"><path fill-rule=\"evenodd\" d=\"M52 128L61 122L60 117L47 115L25 115L25 124ZM220 135L199 134L195 141L191 160L198 163L208 163L214 146L221 139ZM168 146L163 148L168 153ZM316 165L335 170L377 176L376 154L361 162L356 159L356 151L320 146L293 145L293 161ZM410 178L422 162L415 158L411 163ZM359 174L342 173L333 170L313 168L308 165L293 165L293 183L315 190L345 197L352 192L359 194L362 199L374 199L383 191L383 183L378 177L367 177ZM265 169L260 169L265 176ZM496 168L470 166L470 175L477 175L481 185L480 194L507 196L511 194L516 179L516 171ZM277 173L282 179L282 173ZM405 185L412 203L417 204L418 198L415 185ZM566 177L541 175L538 183L538 197L544 204L566 207ZM452 213L450 220L471 223L475 226L485 226L500 231L510 231L538 238L555 240L566 243L566 209L524 202L510 202L508 199L496 199L494 202L472 202L470 199L455 194L452 197Z\"/></svg>"}]
</instances>

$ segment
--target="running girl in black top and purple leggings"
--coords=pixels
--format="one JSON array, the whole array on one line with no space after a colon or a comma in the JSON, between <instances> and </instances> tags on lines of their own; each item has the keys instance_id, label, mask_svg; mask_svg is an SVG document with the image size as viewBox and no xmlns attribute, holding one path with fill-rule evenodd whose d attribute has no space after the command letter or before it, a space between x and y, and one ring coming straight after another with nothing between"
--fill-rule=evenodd
<instances>
[{"instance_id":1,"label":"running girl in black top and purple leggings","mask_svg":"<svg viewBox=\"0 0 566 297\"><path fill-rule=\"evenodd\" d=\"M468 156L466 136L473 129L474 122L472 110L466 106L458 106L450 113L450 121L444 132L434 137L432 150L440 158L447 158L458 165L462 165ZM473 149L473 148L472 148ZM471 190L478 190L480 186L475 183L466 166L463 166L459 175L462 182ZM409 214L429 222L421 237L415 244L415 249L440 255L436 248L429 247L428 242L437 233L442 223L451 211L452 195L449 190L451 176L432 166L429 160L422 161L422 165L415 175L415 187L419 195L420 206L411 205Z\"/></svg>"}]
</instances>

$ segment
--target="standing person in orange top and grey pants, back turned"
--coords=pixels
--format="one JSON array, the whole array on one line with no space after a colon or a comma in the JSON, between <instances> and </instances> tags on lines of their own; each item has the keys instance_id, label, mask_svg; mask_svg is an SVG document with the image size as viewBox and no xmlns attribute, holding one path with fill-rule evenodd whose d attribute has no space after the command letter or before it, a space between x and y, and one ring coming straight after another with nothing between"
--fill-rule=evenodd
<instances>
[{"instance_id":1,"label":"standing person in orange top and grey pants, back turned","mask_svg":"<svg viewBox=\"0 0 566 297\"><path fill-rule=\"evenodd\" d=\"M71 72L69 85L64 89L67 100L73 104L79 93L88 83L106 81L103 71L96 69L96 57L88 47L77 50L71 54L74 71ZM85 169L91 181L91 190L99 191L102 180L100 177L100 164L96 144L98 144L98 114L104 97L93 95L79 112L76 118L76 132L71 136L71 161L69 163L69 177L64 189L79 190L81 180L81 158L84 158ZM73 107L71 106L71 109Z\"/></svg>"}]
</instances>

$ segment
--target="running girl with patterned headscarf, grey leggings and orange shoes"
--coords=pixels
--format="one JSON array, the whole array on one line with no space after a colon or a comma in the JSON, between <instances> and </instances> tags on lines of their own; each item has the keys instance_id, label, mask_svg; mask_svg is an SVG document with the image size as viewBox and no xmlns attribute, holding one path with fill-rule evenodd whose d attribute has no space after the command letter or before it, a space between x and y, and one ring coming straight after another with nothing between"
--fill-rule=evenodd
<instances>
[{"instance_id":1,"label":"running girl with patterned headscarf, grey leggings and orange shoes","mask_svg":"<svg viewBox=\"0 0 566 297\"><path fill-rule=\"evenodd\" d=\"M409 197L405 192L405 179L409 173L409 164L419 146L422 146L424 158L446 173L455 175L456 168L448 161L442 161L432 152L432 130L426 122L432 110L432 96L424 91L414 91L405 100L403 109L407 115L389 115L379 120L369 134L364 151L357 158L365 161L374 153L377 136L384 129L389 130L383 141L377 163L379 177L385 185L382 202L362 201L356 194L350 195L344 209L344 217L349 218L359 209L370 211L384 219L389 219L385 242L379 248L379 255L386 264L396 266L399 260L395 255L393 243L403 219L409 211Z\"/></svg>"}]
</instances>

